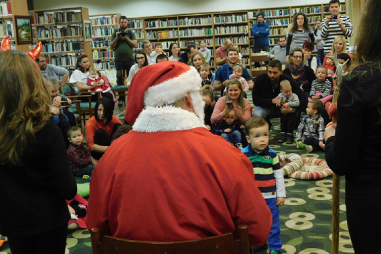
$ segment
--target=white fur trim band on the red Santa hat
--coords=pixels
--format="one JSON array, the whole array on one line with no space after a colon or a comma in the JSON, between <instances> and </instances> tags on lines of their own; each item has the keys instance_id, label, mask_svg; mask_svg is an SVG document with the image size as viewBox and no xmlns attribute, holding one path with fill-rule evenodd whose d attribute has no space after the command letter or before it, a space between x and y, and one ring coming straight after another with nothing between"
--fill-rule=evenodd
<instances>
[{"instance_id":1,"label":"white fur trim band on the red Santa hat","mask_svg":"<svg viewBox=\"0 0 381 254\"><path fill-rule=\"evenodd\" d=\"M183 98L186 93L201 87L201 77L193 66L176 78L151 86L144 93L145 106L164 106Z\"/></svg>"}]
</instances>

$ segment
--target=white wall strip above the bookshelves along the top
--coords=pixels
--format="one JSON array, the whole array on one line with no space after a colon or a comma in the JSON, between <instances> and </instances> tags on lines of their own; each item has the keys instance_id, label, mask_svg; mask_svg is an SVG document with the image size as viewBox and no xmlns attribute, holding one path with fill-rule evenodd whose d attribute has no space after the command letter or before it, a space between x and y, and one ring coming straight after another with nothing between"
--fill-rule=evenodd
<instances>
[{"instance_id":1,"label":"white wall strip above the bookshelves along the top","mask_svg":"<svg viewBox=\"0 0 381 254\"><path fill-rule=\"evenodd\" d=\"M35 10L87 7L89 14L121 13L127 17L176 15L326 4L329 0L35 0Z\"/></svg>"}]
</instances>

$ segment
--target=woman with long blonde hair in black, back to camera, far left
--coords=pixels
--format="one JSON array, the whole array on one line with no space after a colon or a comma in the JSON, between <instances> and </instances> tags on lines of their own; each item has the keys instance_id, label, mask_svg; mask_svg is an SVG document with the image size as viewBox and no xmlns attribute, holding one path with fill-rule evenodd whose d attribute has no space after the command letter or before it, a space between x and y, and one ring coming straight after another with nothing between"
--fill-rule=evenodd
<instances>
[{"instance_id":1,"label":"woman with long blonde hair in black, back to camera, far left","mask_svg":"<svg viewBox=\"0 0 381 254\"><path fill-rule=\"evenodd\" d=\"M0 51L0 234L12 253L65 253L77 186L50 91L27 54ZM43 222L43 223L42 223Z\"/></svg>"}]
</instances>

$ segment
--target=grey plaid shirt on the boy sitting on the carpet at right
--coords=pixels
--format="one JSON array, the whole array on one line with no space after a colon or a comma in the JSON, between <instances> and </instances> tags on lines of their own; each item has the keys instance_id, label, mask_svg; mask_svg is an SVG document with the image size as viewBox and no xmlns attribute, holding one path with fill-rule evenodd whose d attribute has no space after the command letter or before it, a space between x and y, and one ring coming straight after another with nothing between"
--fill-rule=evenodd
<instances>
[{"instance_id":1,"label":"grey plaid shirt on the boy sitting on the carpet at right","mask_svg":"<svg viewBox=\"0 0 381 254\"><path fill-rule=\"evenodd\" d=\"M314 137L319 141L324 141L324 119L319 114L314 118L309 115L303 117L298 127L298 141L302 141L302 136L304 138Z\"/></svg>"}]
</instances>

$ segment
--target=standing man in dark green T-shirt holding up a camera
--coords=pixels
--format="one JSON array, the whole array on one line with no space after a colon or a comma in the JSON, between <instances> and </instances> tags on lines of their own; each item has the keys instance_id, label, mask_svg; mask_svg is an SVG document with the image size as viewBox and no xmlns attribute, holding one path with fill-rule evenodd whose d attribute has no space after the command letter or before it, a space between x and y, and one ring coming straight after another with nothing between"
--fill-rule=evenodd
<instances>
[{"instance_id":1,"label":"standing man in dark green T-shirt holding up a camera","mask_svg":"<svg viewBox=\"0 0 381 254\"><path fill-rule=\"evenodd\" d=\"M121 72L124 71L124 76L128 76L131 67L135 63L134 49L138 46L135 33L131 30L127 30L127 17L120 16L119 29L114 29L114 33L111 37L110 48L115 49L115 69L118 85L123 85L123 79ZM119 97L118 106L122 106L124 96Z\"/></svg>"}]
</instances>

